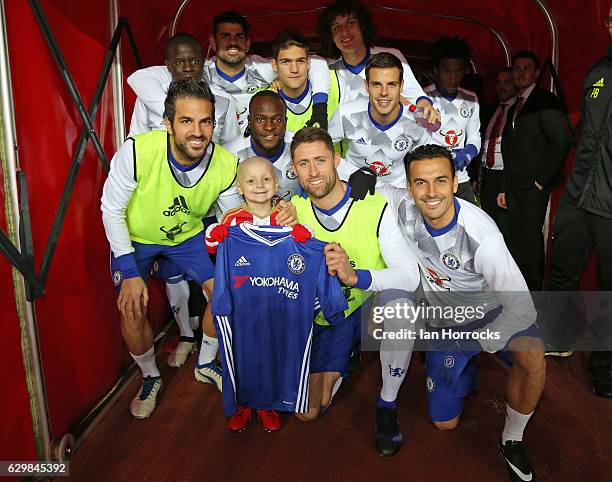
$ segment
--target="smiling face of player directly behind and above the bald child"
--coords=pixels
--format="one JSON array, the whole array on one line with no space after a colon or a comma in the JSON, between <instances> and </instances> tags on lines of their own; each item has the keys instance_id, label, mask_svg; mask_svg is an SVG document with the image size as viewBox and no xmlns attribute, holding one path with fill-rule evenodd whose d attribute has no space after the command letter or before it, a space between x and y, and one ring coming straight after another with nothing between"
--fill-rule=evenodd
<instances>
[{"instance_id":1,"label":"smiling face of player directly behind and above the bald child","mask_svg":"<svg viewBox=\"0 0 612 482\"><path fill-rule=\"evenodd\" d=\"M275 155L285 137L285 105L275 97L253 98L249 107L249 130L257 150L268 157Z\"/></svg>"}]
</instances>

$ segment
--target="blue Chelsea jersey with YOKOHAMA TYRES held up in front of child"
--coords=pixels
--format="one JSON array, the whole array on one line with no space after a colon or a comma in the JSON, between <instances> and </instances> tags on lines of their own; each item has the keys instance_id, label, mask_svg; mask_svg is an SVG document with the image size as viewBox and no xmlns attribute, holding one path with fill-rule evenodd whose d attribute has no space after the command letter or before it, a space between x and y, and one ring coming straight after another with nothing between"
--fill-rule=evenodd
<instances>
[{"instance_id":1,"label":"blue Chelsea jersey with YOKOHAMA TYRES held up in front of child","mask_svg":"<svg viewBox=\"0 0 612 482\"><path fill-rule=\"evenodd\" d=\"M223 408L308 411L315 315L344 320L346 299L327 273L325 243L291 228L242 223L219 245L212 312L221 347Z\"/></svg>"}]
</instances>

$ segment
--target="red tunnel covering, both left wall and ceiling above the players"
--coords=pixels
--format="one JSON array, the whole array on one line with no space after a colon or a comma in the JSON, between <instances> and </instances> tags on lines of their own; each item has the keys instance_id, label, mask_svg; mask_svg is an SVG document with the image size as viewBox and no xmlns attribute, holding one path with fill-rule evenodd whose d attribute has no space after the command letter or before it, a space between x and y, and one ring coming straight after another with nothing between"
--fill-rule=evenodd
<instances>
[{"instance_id":1,"label":"red tunnel covering, both left wall and ceiling above the players","mask_svg":"<svg viewBox=\"0 0 612 482\"><path fill-rule=\"evenodd\" d=\"M320 7L321 3L302 1L292 2L290 6L292 9L312 10ZM478 6L475 7L474 3ZM609 4L606 0L589 3L586 9L581 0L549 0L559 25L560 73L571 110L578 108L580 87L589 65L601 56L606 45L601 18L607 13ZM43 0L41 4L76 85L85 103L89 104L110 38L108 2ZM145 65L161 62L161 47L167 38L167 27L176 4L178 2L166 0L120 1L121 14L127 16L132 25ZM460 8L456 0L440 0L435 2L434 8L440 13L481 18L496 25L508 37L514 51L531 47L543 57L549 55L548 27L534 2L491 2L486 10L481 2L465 1L463 4ZM38 266L82 122L28 3L13 0L5 2L5 5L19 155L22 168L28 175ZM212 16L221 9L244 9L245 13L256 15L271 8L280 10L287 5L280 0L254 0L248 5L230 1L215 10L208 1L192 0L179 30L191 30L204 41L209 34ZM388 2L388 5L422 8L422 2L416 0ZM306 33L314 32L315 17L312 12L285 16ZM423 37L426 35L424 32L428 32L424 38L433 39L438 35L454 33L449 30L452 27L444 22L434 23L428 29L421 16L417 17L418 21L407 22L407 27L401 28L404 24L402 18L399 14L376 12L375 19L382 25L381 36L410 39ZM277 31L278 21L274 19L253 18L252 23L256 41L269 40ZM270 28L271 25L274 27ZM501 64L499 47L482 29L462 27L457 33L470 37L482 65L493 69L496 64ZM124 41L124 72L127 75L134 70L135 63L126 46ZM129 124L133 95L129 87L126 86L126 89ZM115 146L112 140L112 98L108 85L95 126L110 157ZM108 277L108 246L99 211L104 179L105 174L89 143L58 242L47 291L44 298L36 303L54 436L69 431L108 391L130 362L119 333L115 295ZM8 263L2 258L0 296L7 315L2 318L6 335L2 342L5 349L0 351L0 357L3 367L14 367L10 371L3 370L3 375L5 371L8 372L3 379L7 380L8 387L14 392L9 392L13 395L0 401L3 427L9 427L8 434L13 437L2 437L0 454L28 459L33 456L33 443L9 273ZM159 325L165 310L159 297L153 298L153 304L150 312L158 315L155 324Z\"/></svg>"}]
</instances>

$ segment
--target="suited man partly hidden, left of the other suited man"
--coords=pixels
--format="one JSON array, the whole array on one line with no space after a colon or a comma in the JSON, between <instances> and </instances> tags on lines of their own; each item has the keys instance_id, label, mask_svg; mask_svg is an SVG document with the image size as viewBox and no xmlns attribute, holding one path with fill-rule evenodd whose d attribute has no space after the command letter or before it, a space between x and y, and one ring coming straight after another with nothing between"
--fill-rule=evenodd
<instances>
[{"instance_id":1,"label":"suited man partly hidden, left of the other suited man","mask_svg":"<svg viewBox=\"0 0 612 482\"><path fill-rule=\"evenodd\" d=\"M480 204L507 240L508 213L497 205L497 194L502 191L504 159L501 153L502 132L508 119L508 110L516 101L516 86L512 78L512 68L505 67L497 74L495 84L499 105L492 113L482 143L482 182L480 187Z\"/></svg>"}]
</instances>

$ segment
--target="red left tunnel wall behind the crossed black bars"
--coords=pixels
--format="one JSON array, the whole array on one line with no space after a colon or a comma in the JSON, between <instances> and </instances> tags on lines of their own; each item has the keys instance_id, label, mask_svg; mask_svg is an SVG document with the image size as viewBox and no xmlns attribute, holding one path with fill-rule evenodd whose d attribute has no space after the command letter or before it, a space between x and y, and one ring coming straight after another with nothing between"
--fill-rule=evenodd
<instances>
[{"instance_id":1,"label":"red left tunnel wall behind the crossed black bars","mask_svg":"<svg viewBox=\"0 0 612 482\"><path fill-rule=\"evenodd\" d=\"M89 106L110 39L108 2L41 1L41 6ZM6 20L19 158L28 178L35 262L39 267L82 121L28 2L7 2ZM95 127L110 159L115 151L110 82ZM109 249L100 216L105 178L90 142L57 243L45 295L36 301L52 437L70 431L131 363L119 331L108 268ZM4 258L0 259L0 269L2 274L8 272ZM6 279L3 277L3 288ZM3 344L11 343L11 349L2 351L0 357L2 366L16 366L8 380L9 386L18 386L23 384L24 375L20 359L15 365L14 351L19 351L19 343L15 337L15 309L10 308L12 288L3 289L1 296L3 307L11 314L11 319L3 317L3 328L6 325L11 334ZM150 309L153 324L159 327L167 314L159 295L153 296ZM15 420L23 420L19 427L28 425L29 407L23 402L23 390L16 390L16 395L8 399L3 397L3 426L7 416L14 422L8 414L17 403L20 414ZM0 454L8 453L13 459L34 458L28 448L30 433L27 427L23 429L23 443L19 445L16 440L2 437ZM13 446L12 452L5 452L5 443ZM21 454L15 453L17 446L23 447Z\"/></svg>"}]
</instances>

